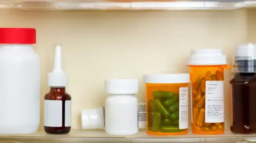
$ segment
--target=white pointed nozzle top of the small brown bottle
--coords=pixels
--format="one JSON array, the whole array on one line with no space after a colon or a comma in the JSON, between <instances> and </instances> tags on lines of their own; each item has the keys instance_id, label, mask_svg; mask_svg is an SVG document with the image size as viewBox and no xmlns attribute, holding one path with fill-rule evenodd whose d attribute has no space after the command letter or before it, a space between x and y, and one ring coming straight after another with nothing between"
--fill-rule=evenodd
<instances>
[{"instance_id":1,"label":"white pointed nozzle top of the small brown bottle","mask_svg":"<svg viewBox=\"0 0 256 143\"><path fill-rule=\"evenodd\" d=\"M61 45L55 45L54 69L48 73L49 87L68 86L68 75L62 70L62 48Z\"/></svg>"}]
</instances>

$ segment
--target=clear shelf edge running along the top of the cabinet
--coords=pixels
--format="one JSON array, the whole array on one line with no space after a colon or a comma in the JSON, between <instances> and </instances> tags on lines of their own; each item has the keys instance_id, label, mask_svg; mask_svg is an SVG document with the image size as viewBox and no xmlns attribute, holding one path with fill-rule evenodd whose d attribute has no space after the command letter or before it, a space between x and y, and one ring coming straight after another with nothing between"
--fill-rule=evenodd
<instances>
[{"instance_id":1,"label":"clear shelf edge running along the top of the cabinet","mask_svg":"<svg viewBox=\"0 0 256 143\"><path fill-rule=\"evenodd\" d=\"M133 2L131 2L133 1ZM23 10L230 10L256 7L242 0L0 0L0 8Z\"/></svg>"}]
</instances>

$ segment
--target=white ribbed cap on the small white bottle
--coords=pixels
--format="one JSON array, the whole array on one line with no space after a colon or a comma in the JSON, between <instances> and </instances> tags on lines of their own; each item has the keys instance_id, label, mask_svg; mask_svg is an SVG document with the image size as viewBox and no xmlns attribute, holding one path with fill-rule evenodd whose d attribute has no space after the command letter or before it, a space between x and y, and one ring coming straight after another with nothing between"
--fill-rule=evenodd
<instances>
[{"instance_id":1,"label":"white ribbed cap on the small white bottle","mask_svg":"<svg viewBox=\"0 0 256 143\"><path fill-rule=\"evenodd\" d=\"M137 94L139 82L137 79L108 79L105 89L108 94Z\"/></svg>"}]
</instances>

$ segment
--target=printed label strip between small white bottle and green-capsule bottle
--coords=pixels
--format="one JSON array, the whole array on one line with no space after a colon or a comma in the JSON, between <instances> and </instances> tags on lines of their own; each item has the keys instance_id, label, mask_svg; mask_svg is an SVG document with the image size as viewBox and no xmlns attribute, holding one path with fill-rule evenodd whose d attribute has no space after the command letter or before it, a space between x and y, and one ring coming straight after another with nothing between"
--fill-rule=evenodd
<instances>
[{"instance_id":1,"label":"printed label strip between small white bottle and green-capsule bottle","mask_svg":"<svg viewBox=\"0 0 256 143\"><path fill-rule=\"evenodd\" d=\"M139 103L138 125L139 129L146 128L146 103Z\"/></svg>"}]
</instances>

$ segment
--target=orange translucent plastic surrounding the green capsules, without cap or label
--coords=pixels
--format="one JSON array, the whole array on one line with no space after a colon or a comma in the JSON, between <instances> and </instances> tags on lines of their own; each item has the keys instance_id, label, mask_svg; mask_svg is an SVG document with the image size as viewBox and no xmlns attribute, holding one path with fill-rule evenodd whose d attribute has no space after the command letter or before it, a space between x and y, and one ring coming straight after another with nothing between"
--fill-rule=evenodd
<instances>
[{"instance_id":1,"label":"orange translucent plastic surrounding the green capsules, without cap or label","mask_svg":"<svg viewBox=\"0 0 256 143\"><path fill-rule=\"evenodd\" d=\"M188 87L188 83L146 83L146 110L147 110L146 129L147 129L148 134L177 135L177 134L188 133L188 129L179 129L178 131L177 130L169 130L168 132L163 132L163 131L161 131L161 129L158 129L156 131L151 130L152 129L151 124L153 122L152 120L154 120L154 119L150 118L150 114L152 114L152 110L149 105L151 104L152 100L157 99L157 98L153 97L153 92L154 91L168 91L168 92L172 92L175 95L179 95L180 87ZM164 100L166 100L166 98L165 99L161 98L162 104L164 103ZM179 98L178 98L177 102L179 103ZM177 109L177 112L179 112L179 108ZM166 117L164 115L161 116L161 125L163 124L163 122L165 122L164 120L166 118L170 119L170 117ZM178 117L178 120L179 120L179 117ZM172 120L171 120L171 122L172 122ZM177 125L177 127L179 127L179 125Z\"/></svg>"}]
</instances>

